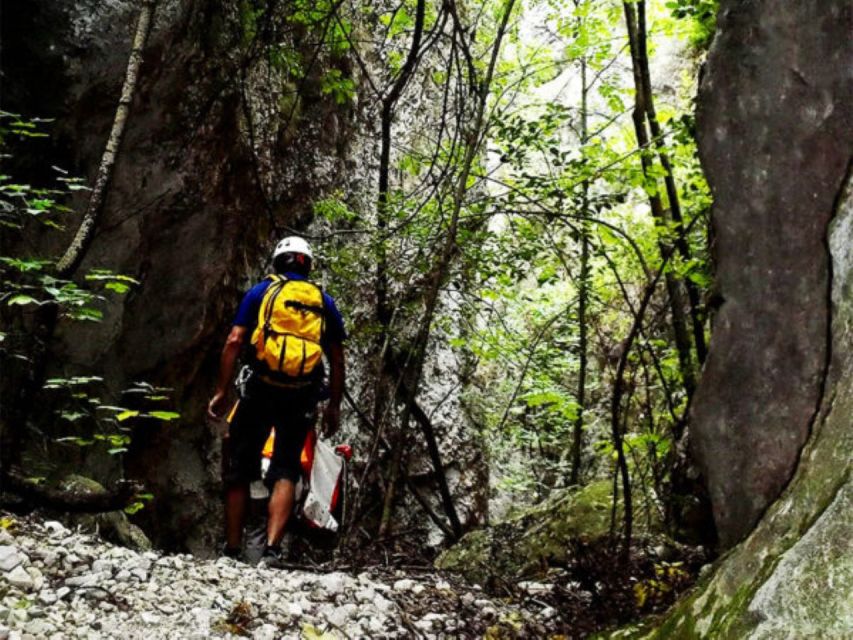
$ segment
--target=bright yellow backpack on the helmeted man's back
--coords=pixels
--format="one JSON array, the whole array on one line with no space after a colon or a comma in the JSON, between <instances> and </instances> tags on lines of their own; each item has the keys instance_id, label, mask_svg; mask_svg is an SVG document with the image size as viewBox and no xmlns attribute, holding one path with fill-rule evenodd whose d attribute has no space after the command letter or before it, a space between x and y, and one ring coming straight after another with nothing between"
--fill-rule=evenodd
<instances>
[{"instance_id":1,"label":"bright yellow backpack on the helmeted man's back","mask_svg":"<svg viewBox=\"0 0 853 640\"><path fill-rule=\"evenodd\" d=\"M252 334L263 373L276 382L300 383L320 371L326 329L323 291L306 280L268 276L270 283ZM263 377L263 376L262 376Z\"/></svg>"}]
</instances>

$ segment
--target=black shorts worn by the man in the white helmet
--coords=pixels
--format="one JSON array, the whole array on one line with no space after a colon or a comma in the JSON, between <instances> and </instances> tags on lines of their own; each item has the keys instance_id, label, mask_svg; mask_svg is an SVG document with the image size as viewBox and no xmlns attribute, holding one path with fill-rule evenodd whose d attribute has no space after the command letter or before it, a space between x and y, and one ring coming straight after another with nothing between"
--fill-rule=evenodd
<instances>
[{"instance_id":1,"label":"black shorts worn by the man in the white helmet","mask_svg":"<svg viewBox=\"0 0 853 640\"><path fill-rule=\"evenodd\" d=\"M223 481L227 487L261 477L261 452L275 427L275 446L264 482L296 482L302 473L300 454L305 437L317 419L317 389L284 389L252 380L228 427L228 460Z\"/></svg>"}]
</instances>

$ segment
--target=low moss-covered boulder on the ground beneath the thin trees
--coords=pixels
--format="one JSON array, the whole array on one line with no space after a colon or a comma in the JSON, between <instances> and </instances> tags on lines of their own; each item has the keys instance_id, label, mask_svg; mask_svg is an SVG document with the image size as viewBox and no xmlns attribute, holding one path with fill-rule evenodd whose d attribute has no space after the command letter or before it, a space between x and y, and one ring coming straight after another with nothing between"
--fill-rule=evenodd
<instances>
[{"instance_id":1,"label":"low moss-covered boulder on the ground beneath the thin trees","mask_svg":"<svg viewBox=\"0 0 853 640\"><path fill-rule=\"evenodd\" d=\"M480 584L507 583L542 575L567 562L572 540L596 540L610 533L612 484L555 491L547 500L505 522L477 529L442 553L438 569ZM617 510L621 519L622 510ZM642 516L642 517L641 517ZM638 533L649 532L645 511L635 514ZM652 529L658 523L651 519Z\"/></svg>"}]
</instances>

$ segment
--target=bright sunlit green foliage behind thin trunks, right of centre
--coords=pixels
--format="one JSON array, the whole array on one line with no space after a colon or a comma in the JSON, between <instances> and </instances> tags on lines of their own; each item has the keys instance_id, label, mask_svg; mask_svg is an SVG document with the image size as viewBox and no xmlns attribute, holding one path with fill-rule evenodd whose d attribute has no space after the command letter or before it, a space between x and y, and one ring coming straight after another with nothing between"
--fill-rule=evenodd
<instances>
[{"instance_id":1,"label":"bright sunlit green foliage behind thin trunks, right of centre","mask_svg":"<svg viewBox=\"0 0 853 640\"><path fill-rule=\"evenodd\" d=\"M502 86L518 92L495 97L489 177L486 186L480 181L471 186L472 192L485 190L480 210L492 223L464 240L462 268L476 283L468 293L473 320L462 335L448 340L451 348L476 358L466 406L486 430L493 462L505 470L500 486L521 495L541 495L566 482L579 418L587 443L582 476L614 464L610 394L620 341L640 292L661 263L660 243L672 243L682 232L674 220L656 221L648 213L650 195L670 206L663 181L667 171L650 149L644 152L644 173L635 150L632 79L618 71L620 64L630 68L630 60L614 37L624 33L621 2L549 2L547 7L557 35L538 51L561 52L561 57L548 67L540 55L527 55L540 43L526 42L515 50L518 57L501 67ZM651 11L650 33L695 47L697 25L712 22L715 7L685 3L681 9ZM650 50L654 56L654 42ZM553 80L554 67L575 82L584 74L589 83L584 101L577 84L573 102L529 99L528 93ZM704 292L711 274L702 220L711 198L696 153L691 82L685 78L676 99L659 99L657 110L692 254L690 260L672 257L667 271ZM428 166L424 158L428 155L401 155L399 167L420 175ZM577 314L584 242L590 258L581 406ZM672 434L687 403L678 354L661 312L665 304L663 294L655 297L657 319L644 323L628 355L629 391L622 407L631 471L652 489L650 495L664 491Z\"/></svg>"}]
</instances>

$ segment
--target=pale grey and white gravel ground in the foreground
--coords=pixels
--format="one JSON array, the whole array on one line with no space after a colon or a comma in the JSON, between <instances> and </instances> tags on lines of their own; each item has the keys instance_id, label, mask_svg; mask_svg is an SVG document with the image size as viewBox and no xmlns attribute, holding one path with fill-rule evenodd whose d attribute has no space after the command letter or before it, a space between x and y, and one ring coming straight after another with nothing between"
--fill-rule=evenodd
<instances>
[{"instance_id":1,"label":"pale grey and white gravel ground in the foreground","mask_svg":"<svg viewBox=\"0 0 853 640\"><path fill-rule=\"evenodd\" d=\"M482 637L490 626L511 637L544 633L555 614L432 574L311 573L140 553L59 522L0 518L0 640L437 639Z\"/></svg>"}]
</instances>

